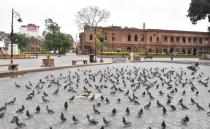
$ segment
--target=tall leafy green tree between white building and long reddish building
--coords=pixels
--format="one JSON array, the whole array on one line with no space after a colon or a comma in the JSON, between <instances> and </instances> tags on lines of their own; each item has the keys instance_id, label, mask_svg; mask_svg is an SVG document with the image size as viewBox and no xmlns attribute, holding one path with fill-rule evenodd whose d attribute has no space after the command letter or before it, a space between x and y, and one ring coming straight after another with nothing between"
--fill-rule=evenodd
<instances>
[{"instance_id":1,"label":"tall leafy green tree between white building and long reddish building","mask_svg":"<svg viewBox=\"0 0 210 129\"><path fill-rule=\"evenodd\" d=\"M52 19L45 20L46 29L43 32L45 37L44 47L49 51L58 50L59 54L65 54L73 44L73 38L60 32L60 26Z\"/></svg>"}]
</instances>

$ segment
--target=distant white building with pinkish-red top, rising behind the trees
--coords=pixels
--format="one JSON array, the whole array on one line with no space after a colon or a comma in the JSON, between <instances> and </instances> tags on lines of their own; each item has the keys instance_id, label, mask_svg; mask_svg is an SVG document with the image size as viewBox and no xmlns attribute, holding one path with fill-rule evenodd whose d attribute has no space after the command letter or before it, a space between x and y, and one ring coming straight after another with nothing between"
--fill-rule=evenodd
<instances>
[{"instance_id":1,"label":"distant white building with pinkish-red top, rising behind the trees","mask_svg":"<svg viewBox=\"0 0 210 129\"><path fill-rule=\"evenodd\" d=\"M35 24L22 25L19 33L26 34L28 37L39 37L39 26Z\"/></svg>"}]
</instances>

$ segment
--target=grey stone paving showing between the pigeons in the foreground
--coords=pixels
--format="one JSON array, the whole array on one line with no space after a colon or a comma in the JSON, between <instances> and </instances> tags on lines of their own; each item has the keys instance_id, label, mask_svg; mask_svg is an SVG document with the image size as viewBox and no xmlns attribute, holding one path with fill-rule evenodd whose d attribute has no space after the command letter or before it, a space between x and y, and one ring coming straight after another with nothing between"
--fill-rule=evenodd
<instances>
[{"instance_id":1,"label":"grey stone paving showing between the pigeons in the foreground","mask_svg":"<svg viewBox=\"0 0 210 129\"><path fill-rule=\"evenodd\" d=\"M0 119L0 129L14 129L15 124L11 124L10 121L14 115L18 115L21 122L26 123L26 126L24 129L48 129L49 126L52 126L53 129L99 129L102 124L102 118L105 117L107 120L111 121L110 127L107 127L107 129L121 129L123 127L122 123L122 117L125 117L126 120L132 122L132 126L127 127L128 129L147 129L149 126L152 127L152 129L161 129L161 122L165 120L167 129L209 129L210 124L209 120L210 117L206 115L206 112L209 111L208 104L210 103L210 93L207 92L210 88L203 87L201 84L197 83L197 80L193 81L194 85L199 89L199 95L196 96L195 93L190 92L190 85L187 84L186 87L182 88L181 85L177 86L178 92L175 94L171 94L170 90L166 89L166 86L161 85L161 82L157 82L156 84L153 84L154 87L151 88L150 92L155 97L154 100L151 100L149 96L146 94L145 97L142 96L142 93L145 91L145 86L141 84L140 89L138 89L135 92L135 95L139 97L138 100L140 102L140 105L134 105L132 102L129 101L128 97L125 96L125 92L127 90L130 90L129 96L132 96L132 90L134 87L131 86L131 82L129 80L126 80L126 87L124 87L124 84L122 82L122 79L120 79L119 84L116 84L117 87L121 87L124 92L116 92L115 95L110 95L110 87L113 86L109 81L105 83L102 81L102 83L99 82L99 76L96 76L96 82L91 82L93 87L88 87L87 84L84 83L84 79L88 78L87 75L83 75L84 70L91 70L91 73L97 73L99 70L104 71L107 70L107 67L112 69L112 72L114 75L116 75L116 68L127 68L128 71L133 71L135 67L145 68L149 70L150 68L158 67L160 69L167 68L173 69L178 74L181 73L181 69L183 69L184 72L186 72L186 75L183 76L182 80L192 78L191 72L186 69L186 66L184 64L167 64L167 63L126 63L126 64L113 64L108 66L90 66L88 68L72 68L72 69L63 69L63 70L55 70L55 71L48 71L48 72L40 72L40 73L31 73L31 74L25 74L22 77L16 77L16 78L6 78L0 80L0 106L2 106L5 102L8 102L9 100L12 100L13 97L17 98L17 101L15 105L9 105L5 114L5 117ZM198 74L196 74L196 77L199 76L199 73L203 72L204 76L201 79L205 79L210 76L210 73L208 72L210 70L207 66L200 66L200 69L198 70ZM50 100L49 103L43 103L41 96L43 95L43 91L40 94L37 94L37 91L35 90L35 97L31 101L25 100L27 94L31 93L32 90L27 90L25 88L25 85L29 84L29 81L33 84L33 88L37 85L39 82L39 79L42 79L43 81L47 81L47 79L44 79L47 75L53 74L55 76L54 78L59 78L60 73L62 73L63 77L66 77L68 75L68 72L71 72L71 78L73 82L76 82L76 79L73 78L75 76L75 72L79 73L81 80L78 83L78 88L76 88L76 83L72 84L72 87L78 92L83 92L83 86L86 86L89 90L91 90L94 93L98 93L98 91L94 88L96 85L105 84L108 86L108 88L104 88L102 90L102 94L104 97L107 97L110 100L110 104L106 104L105 102L101 102L101 106L97 107L97 109L101 112L100 115L97 115L93 112L92 105L96 104L97 102L100 102L100 98L97 100L94 100L93 102L90 100L85 99L75 99L74 101L68 101L69 109L67 111L64 110L63 104L65 101L67 101L70 97L73 95L76 95L72 92L67 92L67 90L64 90L64 83L65 79L61 79L60 77L59 83L62 84L62 86L59 88L58 95L52 95L53 92L56 90L57 86L52 85L51 88L47 88L49 82L46 84L40 84L44 86L43 90L49 95L46 97ZM125 77L128 78L135 78L135 75L132 73L131 75L126 75ZM157 80L157 78L150 79L149 81L153 82ZM116 81L116 80L115 80ZM21 85L21 88L16 88L14 83L17 82L17 84ZM135 82L137 80L135 79ZM160 84L159 89L156 89L155 86L157 84ZM173 86L175 86L174 83L172 83ZM162 90L165 94L163 96L159 96L159 90ZM186 95L182 95L182 91L186 90ZM172 104L176 106L176 111L171 111L170 107L166 105L167 97L166 95L170 94L173 96ZM190 103L190 98L193 97L196 102L198 102L200 105L202 105L206 110L205 111L198 111L197 107L195 105L192 105ZM117 99L121 98L121 102L117 103ZM182 110L180 105L178 105L178 101L183 98L183 102L185 105L187 105L190 110ZM162 108L158 108L156 105L156 100L159 100L167 109L166 115L163 115ZM144 106L151 102L151 107L149 110L144 109ZM21 105L24 104L27 110L32 113L33 118L27 119L26 118L26 111L24 111L22 114L16 114L16 110L21 107ZM41 107L41 113L36 114L35 113L35 107L39 105ZM48 114L46 111L46 105L48 105L51 109L53 109L56 113L55 114ZM113 108L116 108L117 114L116 116L111 115L111 111ZM130 109L130 115L125 114L125 109L129 107ZM144 114L141 118L137 117L138 111L143 108ZM61 123L60 120L60 113L63 112L65 117L67 118L67 121L64 123ZM86 115L89 114L91 118L96 119L99 124L96 126L90 125L87 121ZM72 121L72 116L75 115L76 118L79 119L79 123L74 125ZM182 125L181 120L183 117L188 115L190 117L190 122L187 125ZM127 129L126 128L126 129Z\"/></svg>"}]
</instances>

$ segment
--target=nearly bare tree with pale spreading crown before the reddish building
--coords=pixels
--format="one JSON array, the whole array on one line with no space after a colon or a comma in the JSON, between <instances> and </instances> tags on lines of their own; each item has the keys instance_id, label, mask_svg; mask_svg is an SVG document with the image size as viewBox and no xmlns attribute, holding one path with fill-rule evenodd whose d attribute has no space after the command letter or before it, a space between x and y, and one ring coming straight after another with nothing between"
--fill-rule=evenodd
<instances>
[{"instance_id":1,"label":"nearly bare tree with pale spreading crown before the reddish building","mask_svg":"<svg viewBox=\"0 0 210 129\"><path fill-rule=\"evenodd\" d=\"M92 27L94 31L95 38L95 58L96 58L96 29L100 22L109 18L110 13L105 9L99 9L96 6L89 6L86 8L82 8L76 14L76 24L80 29L84 28L84 26L89 25Z\"/></svg>"}]
</instances>

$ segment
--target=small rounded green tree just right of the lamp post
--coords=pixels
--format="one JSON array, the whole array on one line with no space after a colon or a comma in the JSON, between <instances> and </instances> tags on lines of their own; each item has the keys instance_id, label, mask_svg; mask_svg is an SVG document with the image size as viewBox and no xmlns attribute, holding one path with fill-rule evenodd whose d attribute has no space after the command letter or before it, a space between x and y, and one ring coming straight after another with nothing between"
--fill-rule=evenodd
<instances>
[{"instance_id":1,"label":"small rounded green tree just right of the lamp post","mask_svg":"<svg viewBox=\"0 0 210 129\"><path fill-rule=\"evenodd\" d=\"M16 43L18 44L20 51L28 50L31 45L30 38L25 34L17 34L16 36Z\"/></svg>"}]
</instances>

